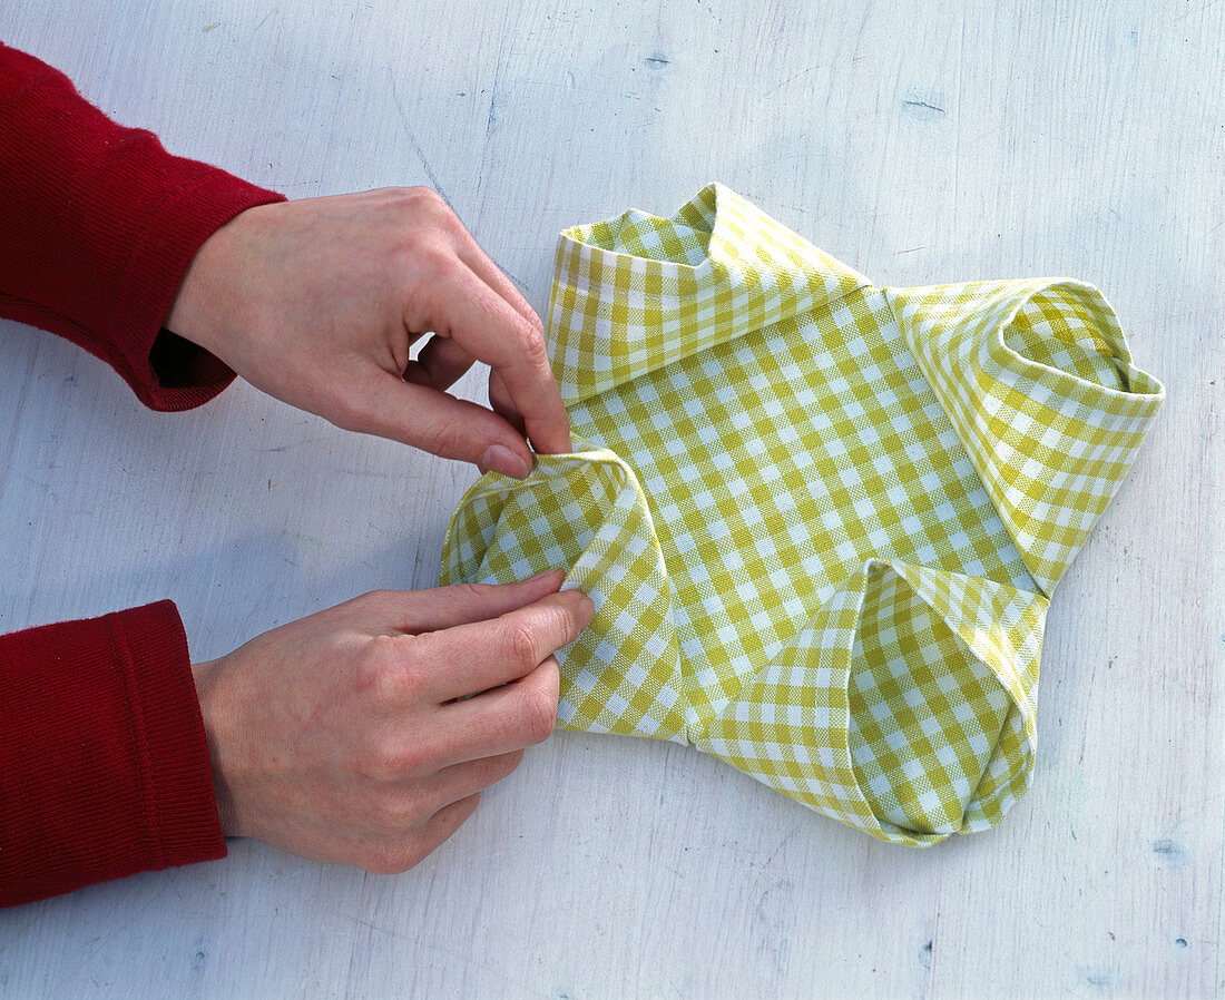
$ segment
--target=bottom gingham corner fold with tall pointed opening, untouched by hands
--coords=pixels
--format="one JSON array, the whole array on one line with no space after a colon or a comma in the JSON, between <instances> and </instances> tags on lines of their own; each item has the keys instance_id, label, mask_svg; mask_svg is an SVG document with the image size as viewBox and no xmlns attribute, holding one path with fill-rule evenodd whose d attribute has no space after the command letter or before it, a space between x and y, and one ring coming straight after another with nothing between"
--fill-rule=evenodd
<instances>
[{"instance_id":1,"label":"bottom gingham corner fold with tall pointed opening, untouched by hands","mask_svg":"<svg viewBox=\"0 0 1225 1000\"><path fill-rule=\"evenodd\" d=\"M911 847L993 826L1029 787L1046 600L870 559L695 745Z\"/></svg>"}]
</instances>

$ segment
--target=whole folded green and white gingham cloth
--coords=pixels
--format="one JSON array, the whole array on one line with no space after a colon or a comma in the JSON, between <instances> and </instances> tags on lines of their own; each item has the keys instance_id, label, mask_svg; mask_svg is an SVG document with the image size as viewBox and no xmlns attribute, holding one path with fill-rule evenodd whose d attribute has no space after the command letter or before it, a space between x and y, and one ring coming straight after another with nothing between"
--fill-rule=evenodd
<instances>
[{"instance_id":1,"label":"whole folded green and white gingham cloth","mask_svg":"<svg viewBox=\"0 0 1225 1000\"><path fill-rule=\"evenodd\" d=\"M895 843L995 826L1047 599L1164 397L1101 295L877 288L712 185L565 232L549 333L575 451L469 490L442 582L592 596L560 723Z\"/></svg>"}]
</instances>

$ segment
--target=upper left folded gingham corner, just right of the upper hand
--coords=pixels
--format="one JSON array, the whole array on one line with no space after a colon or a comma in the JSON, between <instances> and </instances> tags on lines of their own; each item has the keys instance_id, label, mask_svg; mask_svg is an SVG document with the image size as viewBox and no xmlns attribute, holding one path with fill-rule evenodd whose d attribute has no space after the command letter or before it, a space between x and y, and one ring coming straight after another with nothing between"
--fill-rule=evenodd
<instances>
[{"instance_id":1,"label":"upper left folded gingham corner, just right of the upper hand","mask_svg":"<svg viewBox=\"0 0 1225 1000\"><path fill-rule=\"evenodd\" d=\"M670 219L630 211L567 229L556 262L552 365L567 403L869 284L722 184Z\"/></svg>"}]
</instances>

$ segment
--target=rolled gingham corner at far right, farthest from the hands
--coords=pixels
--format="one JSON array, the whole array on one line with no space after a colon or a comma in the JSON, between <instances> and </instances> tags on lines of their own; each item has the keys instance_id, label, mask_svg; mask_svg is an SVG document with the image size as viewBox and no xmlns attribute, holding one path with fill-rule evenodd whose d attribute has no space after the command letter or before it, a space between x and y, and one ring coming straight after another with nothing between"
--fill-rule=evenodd
<instances>
[{"instance_id":1,"label":"rolled gingham corner at far right, farthest from the hands","mask_svg":"<svg viewBox=\"0 0 1225 1000\"><path fill-rule=\"evenodd\" d=\"M1156 415L1115 311L1066 278L888 288L907 343L1050 596Z\"/></svg>"}]
</instances>

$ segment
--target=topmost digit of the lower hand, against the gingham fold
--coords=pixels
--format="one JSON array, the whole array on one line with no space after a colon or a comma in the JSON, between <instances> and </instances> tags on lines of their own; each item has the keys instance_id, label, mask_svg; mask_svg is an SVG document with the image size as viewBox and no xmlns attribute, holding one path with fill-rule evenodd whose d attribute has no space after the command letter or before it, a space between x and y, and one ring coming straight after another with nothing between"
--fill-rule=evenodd
<instances>
[{"instance_id":1,"label":"topmost digit of the lower hand, against the gingham fold","mask_svg":"<svg viewBox=\"0 0 1225 1000\"><path fill-rule=\"evenodd\" d=\"M517 583L457 583L428 591L375 591L359 600L379 626L409 635L494 619L556 593L565 570L545 570Z\"/></svg>"}]
</instances>

